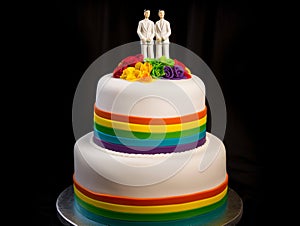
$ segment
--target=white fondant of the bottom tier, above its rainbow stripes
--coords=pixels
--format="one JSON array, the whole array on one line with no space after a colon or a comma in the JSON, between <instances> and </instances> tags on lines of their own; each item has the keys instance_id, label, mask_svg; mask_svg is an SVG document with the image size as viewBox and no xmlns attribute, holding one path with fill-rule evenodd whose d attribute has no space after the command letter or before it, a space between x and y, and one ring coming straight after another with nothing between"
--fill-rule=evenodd
<instances>
[{"instance_id":1,"label":"white fondant of the bottom tier, above its rainbow stripes","mask_svg":"<svg viewBox=\"0 0 300 226\"><path fill-rule=\"evenodd\" d=\"M75 179L93 192L166 197L214 188L226 178L223 142L207 133L196 149L171 154L124 154L95 145L93 132L74 147Z\"/></svg>"}]
</instances>

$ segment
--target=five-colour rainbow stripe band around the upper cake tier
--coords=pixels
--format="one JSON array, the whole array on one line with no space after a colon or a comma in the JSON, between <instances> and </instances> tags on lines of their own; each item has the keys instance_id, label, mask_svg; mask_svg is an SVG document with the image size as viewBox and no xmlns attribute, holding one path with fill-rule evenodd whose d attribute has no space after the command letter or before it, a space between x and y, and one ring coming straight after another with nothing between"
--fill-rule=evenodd
<instances>
[{"instance_id":1,"label":"five-colour rainbow stripe band around the upper cake tier","mask_svg":"<svg viewBox=\"0 0 300 226\"><path fill-rule=\"evenodd\" d=\"M93 141L100 147L131 154L182 152L206 141L204 110L181 117L143 118L103 111L94 106Z\"/></svg>"}]
</instances>

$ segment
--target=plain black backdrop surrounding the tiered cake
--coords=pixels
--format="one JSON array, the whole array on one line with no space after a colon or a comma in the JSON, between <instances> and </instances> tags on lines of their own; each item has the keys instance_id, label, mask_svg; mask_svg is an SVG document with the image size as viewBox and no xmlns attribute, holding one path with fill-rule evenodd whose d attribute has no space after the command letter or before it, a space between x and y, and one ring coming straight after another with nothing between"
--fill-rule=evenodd
<instances>
[{"instance_id":1,"label":"plain black backdrop surrounding the tiered cake","mask_svg":"<svg viewBox=\"0 0 300 226\"><path fill-rule=\"evenodd\" d=\"M14 147L9 150L19 168L3 175L10 219L28 225L61 225L55 204L72 184L72 102L77 84L102 54L138 41L137 23L145 8L151 10L153 21L158 19L158 9L165 10L172 29L170 41L201 57L222 88L229 186L244 204L239 225L285 218L290 210L279 203L289 190L282 185L287 181L283 164L274 162L274 156L279 160L282 155L273 148L275 141L283 143L283 131L278 132L274 124L285 109L281 95L272 91L280 83L274 81L274 71L280 70L286 57L279 54L280 38L288 29L286 5L237 0L66 0L24 2L19 7L12 2L11 6L5 36L14 35L4 42L8 53L3 62L12 85L3 83L3 89L8 88L6 95L14 98L7 101L10 110L3 113L13 119L3 121L14 134L8 137Z\"/></svg>"}]
</instances>

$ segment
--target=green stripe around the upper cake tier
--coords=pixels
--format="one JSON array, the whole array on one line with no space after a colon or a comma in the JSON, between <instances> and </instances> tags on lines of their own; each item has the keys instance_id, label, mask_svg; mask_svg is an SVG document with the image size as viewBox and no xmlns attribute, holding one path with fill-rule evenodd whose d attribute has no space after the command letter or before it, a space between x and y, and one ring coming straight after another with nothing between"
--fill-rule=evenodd
<instances>
[{"instance_id":1,"label":"green stripe around the upper cake tier","mask_svg":"<svg viewBox=\"0 0 300 226\"><path fill-rule=\"evenodd\" d=\"M169 133L147 133L147 132L134 132L128 130L121 130L121 129L114 129L106 126L102 126L94 122L94 128L100 132L118 136L118 137L127 137L127 138L138 138L138 139L168 139L168 138L180 138L185 136L191 136L197 134L199 132L203 132L206 130L206 123L200 127L176 131L176 132L169 132Z\"/></svg>"}]
</instances>

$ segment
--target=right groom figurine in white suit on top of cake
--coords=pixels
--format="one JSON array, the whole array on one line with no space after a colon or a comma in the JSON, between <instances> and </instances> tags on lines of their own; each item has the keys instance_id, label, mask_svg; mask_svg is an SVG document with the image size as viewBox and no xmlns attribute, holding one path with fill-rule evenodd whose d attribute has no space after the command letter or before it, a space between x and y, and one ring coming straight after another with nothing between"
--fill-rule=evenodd
<instances>
[{"instance_id":1,"label":"right groom figurine in white suit on top of cake","mask_svg":"<svg viewBox=\"0 0 300 226\"><path fill-rule=\"evenodd\" d=\"M155 23L155 46L156 46L156 58L169 56L169 36L171 35L171 26L169 21L165 20L165 11L158 10L159 20Z\"/></svg>"}]
</instances>

